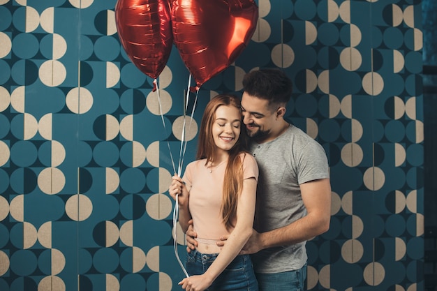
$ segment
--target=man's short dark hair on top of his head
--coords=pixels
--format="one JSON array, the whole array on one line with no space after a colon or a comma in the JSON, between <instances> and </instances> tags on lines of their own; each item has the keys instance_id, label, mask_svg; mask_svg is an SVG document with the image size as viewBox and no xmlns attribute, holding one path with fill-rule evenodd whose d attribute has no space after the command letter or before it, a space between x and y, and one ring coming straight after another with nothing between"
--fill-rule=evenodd
<instances>
[{"instance_id":1,"label":"man's short dark hair on top of his head","mask_svg":"<svg viewBox=\"0 0 437 291\"><path fill-rule=\"evenodd\" d=\"M282 70L264 68L246 73L243 89L251 96L269 100L269 104L286 104L291 98L292 82Z\"/></svg>"}]
</instances>

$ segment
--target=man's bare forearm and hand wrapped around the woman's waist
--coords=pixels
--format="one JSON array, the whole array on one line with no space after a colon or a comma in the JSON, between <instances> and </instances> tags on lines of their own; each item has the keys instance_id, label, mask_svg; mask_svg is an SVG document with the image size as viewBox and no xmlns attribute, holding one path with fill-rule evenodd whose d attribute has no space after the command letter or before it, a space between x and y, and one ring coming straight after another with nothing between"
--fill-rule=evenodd
<instances>
[{"instance_id":1,"label":"man's bare forearm and hand wrapped around the woman's waist","mask_svg":"<svg viewBox=\"0 0 437 291\"><path fill-rule=\"evenodd\" d=\"M329 229L331 219L331 185L329 179L318 179L300 185L306 216L286 225L258 233L253 231L242 254L257 253L264 248L288 246L316 237ZM225 240L227 237L222 237ZM223 246L224 241L218 241Z\"/></svg>"}]
</instances>

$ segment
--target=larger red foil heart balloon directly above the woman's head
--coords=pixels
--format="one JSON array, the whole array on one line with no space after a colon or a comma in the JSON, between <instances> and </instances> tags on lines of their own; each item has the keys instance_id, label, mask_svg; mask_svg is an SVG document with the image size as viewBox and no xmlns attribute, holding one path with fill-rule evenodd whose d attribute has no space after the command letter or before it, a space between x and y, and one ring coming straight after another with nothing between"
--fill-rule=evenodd
<instances>
[{"instance_id":1,"label":"larger red foil heart balloon directly above the woman's head","mask_svg":"<svg viewBox=\"0 0 437 291\"><path fill-rule=\"evenodd\" d=\"M242 53L258 22L253 0L173 0L177 50L198 88Z\"/></svg>"}]
</instances>

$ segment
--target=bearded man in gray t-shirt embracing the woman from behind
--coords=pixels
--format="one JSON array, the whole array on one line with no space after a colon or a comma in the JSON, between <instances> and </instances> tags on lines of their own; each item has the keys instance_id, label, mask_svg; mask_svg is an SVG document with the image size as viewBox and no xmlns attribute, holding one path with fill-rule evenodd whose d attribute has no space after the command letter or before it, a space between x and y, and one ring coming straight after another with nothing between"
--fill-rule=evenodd
<instances>
[{"instance_id":1,"label":"bearded man in gray t-shirt embracing the woman from behind","mask_svg":"<svg viewBox=\"0 0 437 291\"><path fill-rule=\"evenodd\" d=\"M331 186L323 147L283 119L292 82L281 70L247 73L242 112L249 151L260 169L254 230L242 253L253 254L261 291L304 290L306 241L329 229ZM195 248L192 228L188 248ZM218 246L225 244L222 237Z\"/></svg>"}]
</instances>

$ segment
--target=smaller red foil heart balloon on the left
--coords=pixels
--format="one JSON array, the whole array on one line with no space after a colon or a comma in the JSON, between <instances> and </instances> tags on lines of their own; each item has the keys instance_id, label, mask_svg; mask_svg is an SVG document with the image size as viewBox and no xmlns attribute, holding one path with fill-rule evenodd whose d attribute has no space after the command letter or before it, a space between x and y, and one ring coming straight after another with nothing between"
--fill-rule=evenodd
<instances>
[{"instance_id":1,"label":"smaller red foil heart balloon on the left","mask_svg":"<svg viewBox=\"0 0 437 291\"><path fill-rule=\"evenodd\" d=\"M169 0L118 0L115 22L121 45L133 64L156 79L173 44Z\"/></svg>"}]
</instances>

